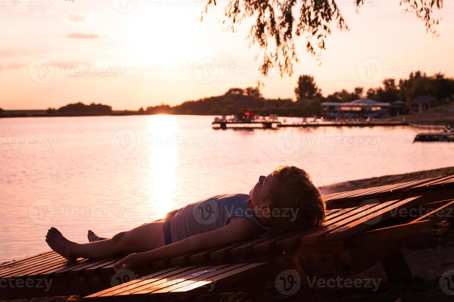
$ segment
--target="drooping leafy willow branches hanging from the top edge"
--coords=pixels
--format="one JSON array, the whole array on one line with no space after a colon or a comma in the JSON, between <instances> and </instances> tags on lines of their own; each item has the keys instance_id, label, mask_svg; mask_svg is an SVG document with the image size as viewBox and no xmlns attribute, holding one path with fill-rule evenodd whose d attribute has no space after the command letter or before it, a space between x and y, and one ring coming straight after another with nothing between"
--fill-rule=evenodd
<instances>
[{"instance_id":1,"label":"drooping leafy willow branches hanging from the top edge","mask_svg":"<svg viewBox=\"0 0 454 302\"><path fill-rule=\"evenodd\" d=\"M213 5L217 5L216 0L208 0L201 20ZM358 11L364 0L355 0L355 5ZM438 36L435 25L440 19L434 19L432 13L443 7L443 0L400 0L400 5L405 12L424 20L426 32ZM222 23L232 32L243 20L255 19L248 38L250 45L258 44L261 49L258 56L262 57L260 69L265 76L273 67L279 68L281 77L292 76L293 64L298 62L295 36L304 36L307 52L320 60L331 25L340 31L348 30L336 0L228 0L224 13Z\"/></svg>"}]
</instances>

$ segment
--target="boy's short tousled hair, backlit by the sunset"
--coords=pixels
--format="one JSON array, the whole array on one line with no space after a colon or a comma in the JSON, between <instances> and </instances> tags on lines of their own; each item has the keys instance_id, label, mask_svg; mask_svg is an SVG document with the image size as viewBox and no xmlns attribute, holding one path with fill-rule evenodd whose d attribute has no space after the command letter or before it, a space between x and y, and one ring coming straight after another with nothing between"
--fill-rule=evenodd
<instances>
[{"instance_id":1,"label":"boy's short tousled hair, backlit by the sunset","mask_svg":"<svg viewBox=\"0 0 454 302\"><path fill-rule=\"evenodd\" d=\"M280 230L304 229L325 221L326 202L306 171L295 166L280 166L271 174L271 214L273 209L279 209L275 213L281 215L271 215L270 226Z\"/></svg>"}]
</instances>

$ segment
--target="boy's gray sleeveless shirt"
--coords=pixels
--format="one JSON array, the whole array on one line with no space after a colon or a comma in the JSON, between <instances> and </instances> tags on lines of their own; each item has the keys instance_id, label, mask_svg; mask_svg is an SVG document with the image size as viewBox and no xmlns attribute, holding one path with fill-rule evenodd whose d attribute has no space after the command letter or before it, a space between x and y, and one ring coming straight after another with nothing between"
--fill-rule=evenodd
<instances>
[{"instance_id":1,"label":"boy's gray sleeveless shirt","mask_svg":"<svg viewBox=\"0 0 454 302\"><path fill-rule=\"evenodd\" d=\"M170 221L172 242L222 228L232 217L244 217L261 226L261 236L273 232L257 220L248 201L248 194L223 194L182 207Z\"/></svg>"}]
</instances>

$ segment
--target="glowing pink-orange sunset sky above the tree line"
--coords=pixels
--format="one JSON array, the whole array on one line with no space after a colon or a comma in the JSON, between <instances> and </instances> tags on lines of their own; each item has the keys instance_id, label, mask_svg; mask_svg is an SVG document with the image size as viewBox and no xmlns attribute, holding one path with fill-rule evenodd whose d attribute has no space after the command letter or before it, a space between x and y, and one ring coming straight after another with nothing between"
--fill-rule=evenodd
<instances>
[{"instance_id":1,"label":"glowing pink-orange sunset sky above the tree line","mask_svg":"<svg viewBox=\"0 0 454 302\"><path fill-rule=\"evenodd\" d=\"M367 90L417 69L454 76L453 1L436 14L443 20L434 38L423 21L402 12L399 0L366 0L360 14L355 1L338 0L350 32L333 29L321 66L306 53L305 39L297 39L301 62L285 78L276 70L266 78L259 74L258 48L248 48L245 39L250 22L235 34L223 31L225 1L202 23L203 6L195 0L126 1L1 1L0 107L82 101L137 110L221 95L257 80L266 97L294 98L300 74L313 75L325 96L342 88Z\"/></svg>"}]
</instances>

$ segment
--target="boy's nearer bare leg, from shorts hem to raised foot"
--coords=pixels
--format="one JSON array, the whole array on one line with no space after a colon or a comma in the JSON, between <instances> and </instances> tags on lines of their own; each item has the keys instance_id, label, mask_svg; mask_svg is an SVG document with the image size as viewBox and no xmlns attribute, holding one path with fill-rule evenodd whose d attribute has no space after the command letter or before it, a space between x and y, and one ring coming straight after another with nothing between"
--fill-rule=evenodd
<instances>
[{"instance_id":1,"label":"boy's nearer bare leg, from shorts hem to raised foot","mask_svg":"<svg viewBox=\"0 0 454 302\"><path fill-rule=\"evenodd\" d=\"M82 244L70 241L56 228L50 228L46 242L51 249L68 260L75 260L77 257L98 259L124 253L140 253L165 244L163 221L146 223L106 240Z\"/></svg>"}]
</instances>

